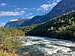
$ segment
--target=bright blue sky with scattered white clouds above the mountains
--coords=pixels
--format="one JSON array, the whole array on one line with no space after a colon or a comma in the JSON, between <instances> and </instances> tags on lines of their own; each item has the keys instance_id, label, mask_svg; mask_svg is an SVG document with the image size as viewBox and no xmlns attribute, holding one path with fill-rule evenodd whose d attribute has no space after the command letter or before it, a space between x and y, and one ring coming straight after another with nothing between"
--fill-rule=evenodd
<instances>
[{"instance_id":1,"label":"bright blue sky with scattered white clouds above the mountains","mask_svg":"<svg viewBox=\"0 0 75 56\"><path fill-rule=\"evenodd\" d=\"M0 25L15 19L31 19L51 11L61 0L0 0Z\"/></svg>"}]
</instances>

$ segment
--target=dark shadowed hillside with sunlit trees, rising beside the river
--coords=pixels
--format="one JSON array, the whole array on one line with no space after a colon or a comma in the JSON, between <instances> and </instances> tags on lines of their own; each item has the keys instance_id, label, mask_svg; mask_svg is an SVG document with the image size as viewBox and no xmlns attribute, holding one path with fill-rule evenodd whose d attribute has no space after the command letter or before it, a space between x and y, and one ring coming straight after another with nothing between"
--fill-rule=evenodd
<instances>
[{"instance_id":1,"label":"dark shadowed hillside with sunlit trees, rising beside the river","mask_svg":"<svg viewBox=\"0 0 75 56\"><path fill-rule=\"evenodd\" d=\"M75 40L75 12L49 20L29 31L27 35Z\"/></svg>"}]
</instances>

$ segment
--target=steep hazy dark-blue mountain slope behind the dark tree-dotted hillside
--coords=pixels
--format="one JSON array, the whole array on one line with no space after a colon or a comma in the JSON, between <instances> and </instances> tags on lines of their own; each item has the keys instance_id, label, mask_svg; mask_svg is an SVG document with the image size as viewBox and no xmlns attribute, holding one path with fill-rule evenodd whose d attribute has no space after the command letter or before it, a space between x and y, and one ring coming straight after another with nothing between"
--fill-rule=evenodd
<instances>
[{"instance_id":1,"label":"steep hazy dark-blue mountain slope behind the dark tree-dotted hillside","mask_svg":"<svg viewBox=\"0 0 75 56\"><path fill-rule=\"evenodd\" d=\"M48 14L33 17L32 20L37 20L37 22L40 21L40 23L42 23L46 20L52 19L53 17L61 16L67 12L74 10L75 0L62 0Z\"/></svg>"}]
</instances>

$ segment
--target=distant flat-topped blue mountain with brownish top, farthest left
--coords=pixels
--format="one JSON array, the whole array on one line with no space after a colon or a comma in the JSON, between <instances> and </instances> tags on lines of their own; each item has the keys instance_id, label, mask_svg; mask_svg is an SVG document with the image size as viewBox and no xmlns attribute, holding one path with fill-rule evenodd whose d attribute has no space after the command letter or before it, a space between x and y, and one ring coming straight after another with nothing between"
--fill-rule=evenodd
<instances>
[{"instance_id":1,"label":"distant flat-topped blue mountain with brownish top, farthest left","mask_svg":"<svg viewBox=\"0 0 75 56\"><path fill-rule=\"evenodd\" d=\"M6 28L17 28L21 27L23 22L28 22L30 19L17 19L10 20L4 27Z\"/></svg>"}]
</instances>

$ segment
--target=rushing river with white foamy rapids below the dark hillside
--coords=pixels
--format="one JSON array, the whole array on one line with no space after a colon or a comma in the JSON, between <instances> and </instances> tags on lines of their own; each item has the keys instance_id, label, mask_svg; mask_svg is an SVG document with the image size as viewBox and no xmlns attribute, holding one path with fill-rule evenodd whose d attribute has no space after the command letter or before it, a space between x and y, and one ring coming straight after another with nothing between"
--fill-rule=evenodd
<instances>
[{"instance_id":1,"label":"rushing river with white foamy rapids below the dark hillside","mask_svg":"<svg viewBox=\"0 0 75 56\"><path fill-rule=\"evenodd\" d=\"M21 42L20 56L75 56L75 42L37 36L27 36Z\"/></svg>"}]
</instances>

